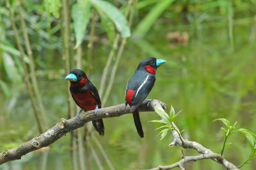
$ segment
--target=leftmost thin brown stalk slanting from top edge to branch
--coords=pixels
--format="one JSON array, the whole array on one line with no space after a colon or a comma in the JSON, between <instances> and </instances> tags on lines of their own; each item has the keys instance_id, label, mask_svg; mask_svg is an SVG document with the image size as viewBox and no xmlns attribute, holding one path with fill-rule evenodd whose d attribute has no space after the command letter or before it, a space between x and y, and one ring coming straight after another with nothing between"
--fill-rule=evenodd
<instances>
[{"instance_id":1,"label":"leftmost thin brown stalk slanting from top edge to branch","mask_svg":"<svg viewBox=\"0 0 256 170\"><path fill-rule=\"evenodd\" d=\"M42 133L43 132L43 130L42 130L43 128L42 128L42 124L41 124L42 122L40 121L39 113L36 109L36 102L35 102L35 98L34 98L34 95L33 95L31 82L29 81L28 68L27 68L25 60L24 60L24 56L25 56L24 50L22 49L22 45L20 43L20 38L19 38L19 33L18 33L17 27L15 25L15 20L14 20L14 17L13 17L13 13L10 9L10 0L6 0L6 8L8 8L8 11L9 11L10 19L11 19L11 22L12 22L12 28L13 28L13 31L14 31L15 40L16 40L18 49L20 51L20 58L21 58L21 61L22 61L22 67L24 69L24 82L26 84L26 88L28 89L29 98L31 100L31 104L32 104L32 107L33 107L33 110L34 110L36 122L37 122L37 125L38 125L38 130L39 130L40 133Z\"/></svg>"}]
</instances>

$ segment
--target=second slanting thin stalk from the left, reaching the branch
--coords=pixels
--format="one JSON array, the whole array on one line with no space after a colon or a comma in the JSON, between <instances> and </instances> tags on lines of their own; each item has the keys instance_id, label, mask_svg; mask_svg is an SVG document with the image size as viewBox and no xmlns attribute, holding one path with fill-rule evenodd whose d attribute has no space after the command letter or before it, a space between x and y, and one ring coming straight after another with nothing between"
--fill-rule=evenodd
<instances>
[{"instance_id":1,"label":"second slanting thin stalk from the left, reaching the branch","mask_svg":"<svg viewBox=\"0 0 256 170\"><path fill-rule=\"evenodd\" d=\"M35 91L35 97L37 100L38 109L40 111L40 115L42 118L43 130L46 130L48 128L47 121L46 121L46 114L45 114L44 105L42 102L42 97L41 97L41 94L38 89L38 83L37 83L36 75L35 75L35 62L33 59L33 52L31 50L31 45L29 42L27 30L26 30L26 24L25 24L24 18L22 17L22 8L21 8L20 0L17 1L17 6L18 6L18 10L19 10L19 17L20 17L20 22L21 22L21 26L22 26L22 33L23 33L24 40L25 40L26 50L27 50L29 60L30 60L29 70L31 73L32 88Z\"/></svg>"}]
</instances>

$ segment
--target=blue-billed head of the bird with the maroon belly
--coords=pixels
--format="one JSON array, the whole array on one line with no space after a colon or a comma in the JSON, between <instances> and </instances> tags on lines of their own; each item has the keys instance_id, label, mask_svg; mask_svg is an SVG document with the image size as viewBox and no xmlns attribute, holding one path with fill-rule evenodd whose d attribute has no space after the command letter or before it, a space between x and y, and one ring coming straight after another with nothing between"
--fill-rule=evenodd
<instances>
[{"instance_id":1,"label":"blue-billed head of the bird with the maroon belly","mask_svg":"<svg viewBox=\"0 0 256 170\"><path fill-rule=\"evenodd\" d=\"M71 84L79 84L81 82L86 83L87 76L82 70L72 69L65 79Z\"/></svg>"}]
</instances>

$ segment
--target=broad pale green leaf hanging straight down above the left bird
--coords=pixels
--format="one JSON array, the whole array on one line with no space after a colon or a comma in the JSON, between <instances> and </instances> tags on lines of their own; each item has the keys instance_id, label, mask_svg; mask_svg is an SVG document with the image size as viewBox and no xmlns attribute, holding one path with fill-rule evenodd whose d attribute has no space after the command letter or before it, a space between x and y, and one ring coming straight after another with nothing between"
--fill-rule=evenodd
<instances>
[{"instance_id":1,"label":"broad pale green leaf hanging straight down above the left bird","mask_svg":"<svg viewBox=\"0 0 256 170\"><path fill-rule=\"evenodd\" d=\"M91 12L91 3L87 0L78 1L78 3L73 4L72 6L71 17L73 19L76 35L76 45L74 49L83 42L83 37L86 33L86 26L90 20Z\"/></svg>"}]
</instances>

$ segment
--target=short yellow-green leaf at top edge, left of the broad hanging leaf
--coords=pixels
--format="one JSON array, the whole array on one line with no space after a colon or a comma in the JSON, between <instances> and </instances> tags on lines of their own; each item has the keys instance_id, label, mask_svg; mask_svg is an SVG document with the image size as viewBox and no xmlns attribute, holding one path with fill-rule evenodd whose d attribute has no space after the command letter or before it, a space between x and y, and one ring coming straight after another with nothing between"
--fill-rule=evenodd
<instances>
[{"instance_id":1,"label":"short yellow-green leaf at top edge, left of the broad hanging leaf","mask_svg":"<svg viewBox=\"0 0 256 170\"><path fill-rule=\"evenodd\" d=\"M51 13L57 19L60 17L60 0L44 0L44 8L47 12L48 24L51 26Z\"/></svg>"}]
</instances>

